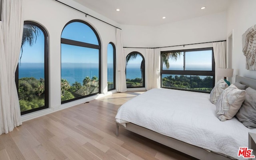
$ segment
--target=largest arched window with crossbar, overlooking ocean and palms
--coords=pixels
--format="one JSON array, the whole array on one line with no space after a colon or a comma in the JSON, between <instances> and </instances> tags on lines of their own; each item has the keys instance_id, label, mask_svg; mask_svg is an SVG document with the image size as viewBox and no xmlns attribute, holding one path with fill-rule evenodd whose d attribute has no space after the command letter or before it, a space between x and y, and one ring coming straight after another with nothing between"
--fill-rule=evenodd
<instances>
[{"instance_id":1,"label":"largest arched window with crossbar, overlooking ocean and palms","mask_svg":"<svg viewBox=\"0 0 256 160\"><path fill-rule=\"evenodd\" d=\"M100 92L100 38L81 20L66 24L61 34L61 103Z\"/></svg>"}]
</instances>

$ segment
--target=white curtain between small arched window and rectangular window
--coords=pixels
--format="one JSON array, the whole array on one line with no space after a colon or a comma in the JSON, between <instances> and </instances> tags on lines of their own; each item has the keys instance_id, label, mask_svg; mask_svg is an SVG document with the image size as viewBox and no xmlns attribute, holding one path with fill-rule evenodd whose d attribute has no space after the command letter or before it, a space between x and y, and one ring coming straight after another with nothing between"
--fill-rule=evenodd
<instances>
[{"instance_id":1,"label":"white curtain between small arched window and rectangular window","mask_svg":"<svg viewBox=\"0 0 256 160\"><path fill-rule=\"evenodd\" d=\"M146 90L160 88L160 49L146 48Z\"/></svg>"}]
</instances>

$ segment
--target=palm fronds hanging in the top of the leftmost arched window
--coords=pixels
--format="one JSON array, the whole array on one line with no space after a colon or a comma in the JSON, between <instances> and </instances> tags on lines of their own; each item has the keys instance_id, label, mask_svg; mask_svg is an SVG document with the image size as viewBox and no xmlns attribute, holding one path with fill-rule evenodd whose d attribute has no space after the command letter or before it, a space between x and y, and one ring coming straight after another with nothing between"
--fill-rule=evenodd
<instances>
[{"instance_id":1,"label":"palm fronds hanging in the top of the leftmost arched window","mask_svg":"<svg viewBox=\"0 0 256 160\"><path fill-rule=\"evenodd\" d=\"M29 46L33 46L36 43L37 36L40 35L40 28L32 24L25 24L23 27L22 41L21 41L21 55L22 57L24 44L28 43Z\"/></svg>"}]
</instances>

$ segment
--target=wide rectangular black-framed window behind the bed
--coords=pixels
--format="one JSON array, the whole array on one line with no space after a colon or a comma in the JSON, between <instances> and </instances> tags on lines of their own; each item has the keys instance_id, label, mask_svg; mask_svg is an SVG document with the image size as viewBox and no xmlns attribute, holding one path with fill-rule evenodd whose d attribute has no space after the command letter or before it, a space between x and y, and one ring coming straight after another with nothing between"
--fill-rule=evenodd
<instances>
[{"instance_id":1,"label":"wide rectangular black-framed window behind the bed","mask_svg":"<svg viewBox=\"0 0 256 160\"><path fill-rule=\"evenodd\" d=\"M162 88L209 93L214 87L212 48L161 52Z\"/></svg>"}]
</instances>

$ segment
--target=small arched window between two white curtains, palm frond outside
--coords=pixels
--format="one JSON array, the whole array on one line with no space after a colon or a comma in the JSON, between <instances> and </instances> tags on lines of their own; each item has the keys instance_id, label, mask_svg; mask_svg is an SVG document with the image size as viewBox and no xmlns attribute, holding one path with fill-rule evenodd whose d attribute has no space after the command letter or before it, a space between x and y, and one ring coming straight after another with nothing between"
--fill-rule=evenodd
<instances>
[{"instance_id":1,"label":"small arched window between two white curtains, palm frond outside","mask_svg":"<svg viewBox=\"0 0 256 160\"><path fill-rule=\"evenodd\" d=\"M145 87L145 60L139 52L131 52L126 56L126 86Z\"/></svg>"}]
</instances>

